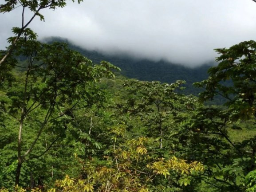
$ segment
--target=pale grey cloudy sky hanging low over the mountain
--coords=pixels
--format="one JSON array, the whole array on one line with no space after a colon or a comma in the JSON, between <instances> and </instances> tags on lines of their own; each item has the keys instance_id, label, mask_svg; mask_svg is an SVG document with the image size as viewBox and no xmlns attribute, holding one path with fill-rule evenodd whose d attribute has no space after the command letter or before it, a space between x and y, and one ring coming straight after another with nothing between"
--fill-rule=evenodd
<instances>
[{"instance_id":1,"label":"pale grey cloudy sky hanging low over the mountain","mask_svg":"<svg viewBox=\"0 0 256 192\"><path fill-rule=\"evenodd\" d=\"M0 49L7 46L11 28L20 27L21 11L0 13ZM35 19L29 26L39 39L60 36L105 54L187 66L213 60L214 48L256 40L252 0L84 0L42 13L45 22Z\"/></svg>"}]
</instances>

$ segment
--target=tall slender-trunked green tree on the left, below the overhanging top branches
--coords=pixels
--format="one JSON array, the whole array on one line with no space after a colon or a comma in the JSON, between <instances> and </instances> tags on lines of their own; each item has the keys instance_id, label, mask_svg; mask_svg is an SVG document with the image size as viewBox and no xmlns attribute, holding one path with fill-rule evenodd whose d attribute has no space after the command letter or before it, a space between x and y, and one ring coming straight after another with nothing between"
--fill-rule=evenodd
<instances>
[{"instance_id":1,"label":"tall slender-trunked green tree on the left, below the overhanging top branches","mask_svg":"<svg viewBox=\"0 0 256 192\"><path fill-rule=\"evenodd\" d=\"M94 65L78 52L69 50L63 43L39 43L32 32L27 39L19 39L13 53L26 56L28 63L24 76L14 79L10 86L3 82L2 86L6 87L5 97L1 98L0 103L1 110L19 123L16 170L16 184L19 184L21 166L32 158L28 155L35 147L43 129L47 126L54 127L60 121L65 124L67 122L63 118L71 110L87 107L91 99L87 90L90 83L103 76L113 77L110 69L118 68L107 62ZM5 61L8 62L9 59ZM35 126L38 133L30 147L24 151L22 132L26 128L26 121ZM52 141L48 149L61 134L59 131L59 136Z\"/></svg>"}]
</instances>

